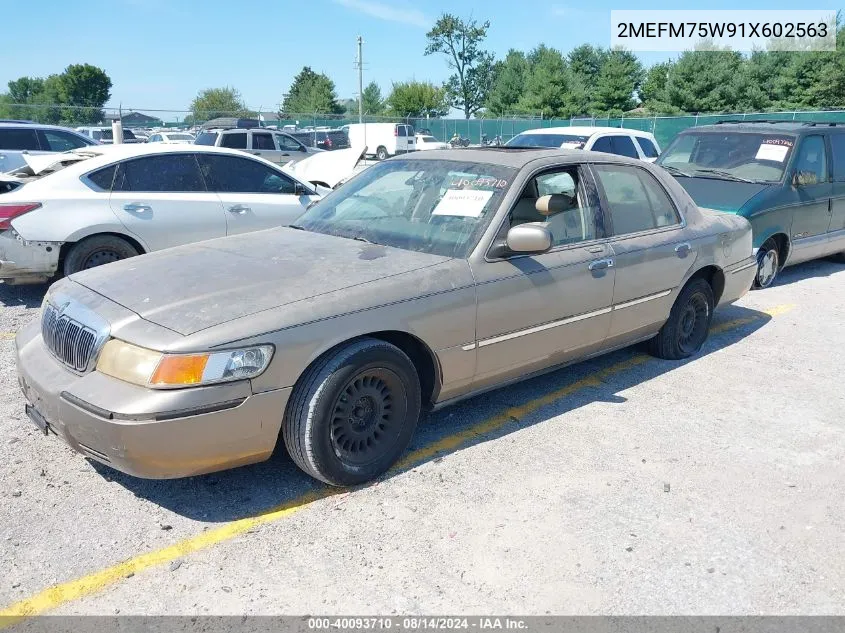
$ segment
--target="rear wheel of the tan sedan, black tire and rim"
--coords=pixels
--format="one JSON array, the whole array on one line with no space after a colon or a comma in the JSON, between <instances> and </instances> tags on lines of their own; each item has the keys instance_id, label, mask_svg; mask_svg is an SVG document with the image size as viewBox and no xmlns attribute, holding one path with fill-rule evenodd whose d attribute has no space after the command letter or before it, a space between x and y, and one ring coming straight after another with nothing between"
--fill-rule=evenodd
<instances>
[{"instance_id":1,"label":"rear wheel of the tan sedan, black tire and rim","mask_svg":"<svg viewBox=\"0 0 845 633\"><path fill-rule=\"evenodd\" d=\"M689 358L704 345L713 320L713 289L704 279L693 279L678 294L669 319L651 341L649 351L658 358Z\"/></svg>"}]
</instances>

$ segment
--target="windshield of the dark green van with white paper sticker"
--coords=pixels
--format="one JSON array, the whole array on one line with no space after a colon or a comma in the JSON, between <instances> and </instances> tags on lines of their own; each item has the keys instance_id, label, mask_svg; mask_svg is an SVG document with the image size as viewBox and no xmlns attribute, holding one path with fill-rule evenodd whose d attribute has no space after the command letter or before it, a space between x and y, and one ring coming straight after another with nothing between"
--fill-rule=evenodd
<instances>
[{"instance_id":1,"label":"windshield of the dark green van with white paper sticker","mask_svg":"<svg viewBox=\"0 0 845 633\"><path fill-rule=\"evenodd\" d=\"M794 145L784 134L689 132L672 141L657 164L676 176L778 182Z\"/></svg>"}]
</instances>

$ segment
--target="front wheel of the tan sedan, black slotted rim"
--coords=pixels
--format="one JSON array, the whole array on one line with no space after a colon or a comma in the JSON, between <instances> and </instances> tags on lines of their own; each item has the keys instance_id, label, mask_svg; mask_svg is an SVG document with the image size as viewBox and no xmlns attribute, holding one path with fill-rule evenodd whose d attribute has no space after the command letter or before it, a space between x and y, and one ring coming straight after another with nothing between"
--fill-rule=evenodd
<instances>
[{"instance_id":1,"label":"front wheel of the tan sedan, black slotted rim","mask_svg":"<svg viewBox=\"0 0 845 633\"><path fill-rule=\"evenodd\" d=\"M354 486L396 462L420 408L419 376L408 356L364 338L318 359L299 379L282 435L306 473L332 486Z\"/></svg>"}]
</instances>

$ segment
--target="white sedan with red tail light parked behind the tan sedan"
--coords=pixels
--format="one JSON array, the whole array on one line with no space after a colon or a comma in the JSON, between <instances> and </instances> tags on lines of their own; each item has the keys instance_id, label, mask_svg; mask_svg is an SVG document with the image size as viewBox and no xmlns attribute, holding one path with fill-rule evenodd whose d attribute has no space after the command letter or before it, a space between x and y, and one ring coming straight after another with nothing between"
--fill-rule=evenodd
<instances>
[{"instance_id":1,"label":"white sedan with red tail light parked behind the tan sedan","mask_svg":"<svg viewBox=\"0 0 845 633\"><path fill-rule=\"evenodd\" d=\"M141 253L290 224L318 187L237 150L95 145L0 174L0 279L42 283Z\"/></svg>"}]
</instances>

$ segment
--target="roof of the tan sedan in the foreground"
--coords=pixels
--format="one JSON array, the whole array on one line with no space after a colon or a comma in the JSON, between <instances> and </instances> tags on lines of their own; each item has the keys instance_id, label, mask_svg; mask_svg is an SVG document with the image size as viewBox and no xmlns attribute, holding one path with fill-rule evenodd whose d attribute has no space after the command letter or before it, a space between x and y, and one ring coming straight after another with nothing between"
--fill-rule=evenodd
<instances>
[{"instance_id":1,"label":"roof of the tan sedan in the foreground","mask_svg":"<svg viewBox=\"0 0 845 633\"><path fill-rule=\"evenodd\" d=\"M583 163L586 161L597 161L602 163L621 163L626 165L641 166L642 161L627 156L616 154L605 154L604 152L591 152L572 149L558 148L528 148L528 147L477 147L467 149L435 149L427 152L414 152L389 158L389 161L396 160L450 160L466 161L468 163L486 163L488 165L502 165L504 167L516 167L521 169L528 163L543 158L555 158L561 164Z\"/></svg>"}]
</instances>

